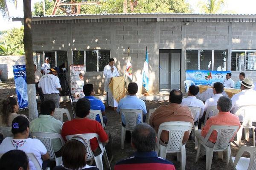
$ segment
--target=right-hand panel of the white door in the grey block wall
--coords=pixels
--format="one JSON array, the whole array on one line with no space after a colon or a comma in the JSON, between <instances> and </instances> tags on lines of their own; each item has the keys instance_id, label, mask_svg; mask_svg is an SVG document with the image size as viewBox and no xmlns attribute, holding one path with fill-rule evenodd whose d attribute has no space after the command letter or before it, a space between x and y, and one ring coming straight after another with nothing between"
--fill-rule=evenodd
<instances>
[{"instance_id":1,"label":"right-hand panel of the white door in the grey block wall","mask_svg":"<svg viewBox=\"0 0 256 170\"><path fill-rule=\"evenodd\" d=\"M172 53L171 84L180 84L180 53Z\"/></svg>"}]
</instances>

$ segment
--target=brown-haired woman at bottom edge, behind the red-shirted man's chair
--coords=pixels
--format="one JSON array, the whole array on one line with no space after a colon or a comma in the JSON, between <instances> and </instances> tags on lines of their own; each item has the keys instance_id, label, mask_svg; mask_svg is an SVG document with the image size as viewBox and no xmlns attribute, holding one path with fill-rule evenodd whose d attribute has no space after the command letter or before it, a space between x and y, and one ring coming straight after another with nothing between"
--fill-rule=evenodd
<instances>
[{"instance_id":1,"label":"brown-haired woman at bottom edge, behind the red-shirted man's chair","mask_svg":"<svg viewBox=\"0 0 256 170\"><path fill-rule=\"evenodd\" d=\"M75 136L62 148L63 164L53 170L99 170L86 164L86 144L83 138Z\"/></svg>"}]
</instances>

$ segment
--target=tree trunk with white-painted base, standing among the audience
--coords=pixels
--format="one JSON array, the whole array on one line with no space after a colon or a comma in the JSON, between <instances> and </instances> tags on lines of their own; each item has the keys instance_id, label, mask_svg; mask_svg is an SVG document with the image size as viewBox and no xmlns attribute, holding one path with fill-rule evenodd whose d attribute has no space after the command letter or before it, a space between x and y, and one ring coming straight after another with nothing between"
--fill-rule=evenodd
<instances>
[{"instance_id":1,"label":"tree trunk with white-painted base, standing among the audience","mask_svg":"<svg viewBox=\"0 0 256 170\"><path fill-rule=\"evenodd\" d=\"M38 117L37 103L35 96L35 74L32 52L32 16L31 0L23 0L24 11L24 51L26 57L26 80L28 86L29 120L32 121Z\"/></svg>"}]
</instances>

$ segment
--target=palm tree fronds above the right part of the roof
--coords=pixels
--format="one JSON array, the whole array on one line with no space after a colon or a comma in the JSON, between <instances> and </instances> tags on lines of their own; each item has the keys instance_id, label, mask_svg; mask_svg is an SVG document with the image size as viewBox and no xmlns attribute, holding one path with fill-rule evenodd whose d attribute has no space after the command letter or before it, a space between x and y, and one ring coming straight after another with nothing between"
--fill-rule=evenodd
<instances>
[{"instance_id":1,"label":"palm tree fronds above the right part of the roof","mask_svg":"<svg viewBox=\"0 0 256 170\"><path fill-rule=\"evenodd\" d=\"M207 3L200 1L201 10L207 14L216 14L221 11L224 6L224 0L208 0Z\"/></svg>"}]
</instances>

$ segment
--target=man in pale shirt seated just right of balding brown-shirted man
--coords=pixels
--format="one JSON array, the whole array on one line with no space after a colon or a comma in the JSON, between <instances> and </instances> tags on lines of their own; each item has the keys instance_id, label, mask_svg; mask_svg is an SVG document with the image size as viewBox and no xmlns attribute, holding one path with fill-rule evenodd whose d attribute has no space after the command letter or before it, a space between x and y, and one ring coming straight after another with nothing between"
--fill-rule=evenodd
<instances>
[{"instance_id":1,"label":"man in pale shirt seated just right of balding brown-shirted man","mask_svg":"<svg viewBox=\"0 0 256 170\"><path fill-rule=\"evenodd\" d=\"M182 106L192 106L192 107L201 108L201 112L199 114L196 114L194 117L195 122L198 120L198 117L201 118L204 114L204 103L195 97L198 94L198 92L199 92L198 86L196 85L189 86L188 97L182 99L182 102L181 102Z\"/></svg>"}]
</instances>

